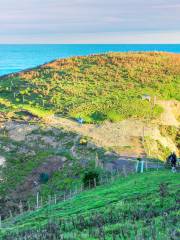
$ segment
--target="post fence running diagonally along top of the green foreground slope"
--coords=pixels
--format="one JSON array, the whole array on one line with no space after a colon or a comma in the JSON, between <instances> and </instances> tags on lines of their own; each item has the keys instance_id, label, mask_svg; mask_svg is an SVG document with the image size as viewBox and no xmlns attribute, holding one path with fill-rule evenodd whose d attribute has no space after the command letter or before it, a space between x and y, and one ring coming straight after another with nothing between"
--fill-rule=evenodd
<instances>
[{"instance_id":1,"label":"post fence running diagonally along top of the green foreground slope","mask_svg":"<svg viewBox=\"0 0 180 240\"><path fill-rule=\"evenodd\" d=\"M138 164L139 161L134 161L135 162L135 168L134 168L134 172L137 173L138 172ZM142 161L143 162L143 161ZM153 169L157 169L159 170L159 168L163 168L164 164L159 164L158 162L150 162L150 164L156 164L156 166L154 165ZM149 168L152 169L152 168ZM144 163L141 164L140 167L140 171L139 173L143 173L145 171L148 170L148 163L145 163L145 168L144 168ZM24 213L32 213L34 211L36 211L37 209L43 208L45 206L48 205L56 205L57 203L61 202L61 201L68 201L72 198L74 198L75 196L77 196L78 194L80 194L81 192L85 192L88 191L90 189L96 188L98 186L103 186L106 185L108 183L112 183L114 181L116 181L119 177L127 177L128 175L134 173L134 172L128 172L126 169L126 165L124 165L122 167L122 171L120 171L119 169L116 169L114 171L110 171L107 172L107 174L103 174L103 176L100 176L98 182L97 179L91 179L89 180L89 184L88 187L85 187L83 184L81 184L79 186L79 188L77 186L75 186L75 188L70 189L69 191L62 191L61 194L59 194L59 196L57 195L58 193L55 193L53 196L49 195L48 199L46 201L43 202L43 198L42 196L40 196L40 193L37 192L36 193L36 199L35 199L35 205L33 207L30 206L29 201L27 202L27 210L24 211L24 207L23 207L23 203L22 201L20 201L19 203L19 214L16 214L15 216L13 216L11 210L9 210L9 218L6 218L2 221L2 216L0 215L0 229L5 228L7 226L10 226L13 224L14 220L17 217L20 217L21 215L23 215ZM8 222L8 223L7 223Z\"/></svg>"}]
</instances>

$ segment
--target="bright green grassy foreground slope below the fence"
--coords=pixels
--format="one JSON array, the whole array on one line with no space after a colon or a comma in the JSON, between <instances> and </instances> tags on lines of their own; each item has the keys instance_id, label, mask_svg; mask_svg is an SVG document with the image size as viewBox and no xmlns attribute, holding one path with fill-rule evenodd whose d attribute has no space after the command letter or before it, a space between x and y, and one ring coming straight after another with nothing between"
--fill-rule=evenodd
<instances>
[{"instance_id":1,"label":"bright green grassy foreground slope below the fence","mask_svg":"<svg viewBox=\"0 0 180 240\"><path fill-rule=\"evenodd\" d=\"M2 239L156 239L180 236L179 174L135 174L4 223Z\"/></svg>"}]
</instances>

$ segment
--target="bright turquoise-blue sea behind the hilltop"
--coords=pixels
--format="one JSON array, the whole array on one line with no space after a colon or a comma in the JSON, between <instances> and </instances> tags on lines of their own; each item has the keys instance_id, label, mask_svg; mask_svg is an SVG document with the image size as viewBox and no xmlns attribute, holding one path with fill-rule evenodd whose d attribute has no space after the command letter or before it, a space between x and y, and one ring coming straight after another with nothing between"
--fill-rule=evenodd
<instances>
[{"instance_id":1,"label":"bright turquoise-blue sea behind the hilltop","mask_svg":"<svg viewBox=\"0 0 180 240\"><path fill-rule=\"evenodd\" d=\"M0 76L33 68L57 58L128 51L180 53L180 44L0 44Z\"/></svg>"}]
</instances>

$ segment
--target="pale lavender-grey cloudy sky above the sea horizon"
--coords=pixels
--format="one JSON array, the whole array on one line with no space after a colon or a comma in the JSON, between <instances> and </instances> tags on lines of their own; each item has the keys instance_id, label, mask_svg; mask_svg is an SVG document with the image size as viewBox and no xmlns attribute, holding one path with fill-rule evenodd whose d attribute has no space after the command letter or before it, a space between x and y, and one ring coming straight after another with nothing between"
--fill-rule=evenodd
<instances>
[{"instance_id":1,"label":"pale lavender-grey cloudy sky above the sea horizon","mask_svg":"<svg viewBox=\"0 0 180 240\"><path fill-rule=\"evenodd\" d=\"M0 0L0 43L180 43L180 0Z\"/></svg>"}]
</instances>

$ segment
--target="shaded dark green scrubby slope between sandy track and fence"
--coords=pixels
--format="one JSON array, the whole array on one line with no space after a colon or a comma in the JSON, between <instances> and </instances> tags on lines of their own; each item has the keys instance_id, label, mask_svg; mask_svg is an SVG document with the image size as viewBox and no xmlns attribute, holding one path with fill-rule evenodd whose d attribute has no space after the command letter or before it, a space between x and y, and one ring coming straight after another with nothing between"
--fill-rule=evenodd
<instances>
[{"instance_id":1,"label":"shaded dark green scrubby slope between sandy track and fence","mask_svg":"<svg viewBox=\"0 0 180 240\"><path fill-rule=\"evenodd\" d=\"M9 216L9 210L19 212L20 201L26 208L28 200L34 204L37 191L47 201L49 195L79 186L84 172L95 167L97 157L105 163L118 159L113 153L105 153L106 149L90 139L62 128L5 122L0 129L0 160L5 159L4 165L0 164L2 218ZM41 173L49 175L46 184L39 182Z\"/></svg>"}]
</instances>

